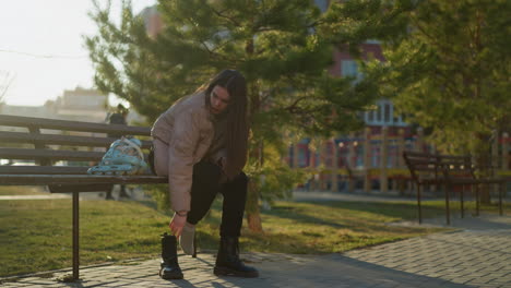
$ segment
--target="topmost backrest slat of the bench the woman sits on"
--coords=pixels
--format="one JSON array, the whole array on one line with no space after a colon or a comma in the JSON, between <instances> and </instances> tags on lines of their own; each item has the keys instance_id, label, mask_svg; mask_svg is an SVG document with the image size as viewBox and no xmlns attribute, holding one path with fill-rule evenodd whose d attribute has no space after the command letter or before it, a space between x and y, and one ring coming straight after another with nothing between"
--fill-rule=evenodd
<instances>
[{"instance_id":1,"label":"topmost backrest slat of the bench the woman sits on","mask_svg":"<svg viewBox=\"0 0 511 288\"><path fill-rule=\"evenodd\" d=\"M80 122L68 120L55 120L45 118L32 118L21 116L0 115L0 125L7 127L34 127L39 129L55 129L64 131L82 131L97 133L121 133L130 135L151 135L151 128L147 127L130 127L122 124L107 124Z\"/></svg>"}]
</instances>

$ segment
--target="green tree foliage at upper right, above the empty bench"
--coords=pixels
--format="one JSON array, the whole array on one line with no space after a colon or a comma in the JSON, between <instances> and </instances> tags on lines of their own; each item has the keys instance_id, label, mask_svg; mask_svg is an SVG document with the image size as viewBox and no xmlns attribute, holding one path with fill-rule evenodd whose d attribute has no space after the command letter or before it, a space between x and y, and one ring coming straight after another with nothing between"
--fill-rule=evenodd
<instances>
[{"instance_id":1,"label":"green tree foliage at upper right, above the empty bench","mask_svg":"<svg viewBox=\"0 0 511 288\"><path fill-rule=\"evenodd\" d=\"M335 9L358 11L350 35L383 41L387 61L367 64L366 76L438 149L487 156L492 131L511 129L510 1L353 0Z\"/></svg>"}]
</instances>

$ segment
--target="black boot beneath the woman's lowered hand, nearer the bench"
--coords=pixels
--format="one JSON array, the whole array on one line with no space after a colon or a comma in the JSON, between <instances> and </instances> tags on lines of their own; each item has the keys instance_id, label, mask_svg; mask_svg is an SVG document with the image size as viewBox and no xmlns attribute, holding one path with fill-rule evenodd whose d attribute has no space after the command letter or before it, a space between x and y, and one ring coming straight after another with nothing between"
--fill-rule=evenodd
<instances>
[{"instance_id":1,"label":"black boot beneath the woman's lowered hand, nearer the bench","mask_svg":"<svg viewBox=\"0 0 511 288\"><path fill-rule=\"evenodd\" d=\"M182 279L181 267L177 261L177 241L174 235L162 235L162 268L159 277L164 279Z\"/></svg>"}]
</instances>

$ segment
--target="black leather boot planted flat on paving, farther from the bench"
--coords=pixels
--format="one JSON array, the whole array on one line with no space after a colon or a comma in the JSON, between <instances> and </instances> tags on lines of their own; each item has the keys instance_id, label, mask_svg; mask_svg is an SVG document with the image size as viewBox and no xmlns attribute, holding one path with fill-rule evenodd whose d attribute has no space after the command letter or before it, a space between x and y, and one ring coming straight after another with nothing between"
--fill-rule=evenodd
<instances>
[{"instance_id":1,"label":"black leather boot planted flat on paving, farther from the bench","mask_svg":"<svg viewBox=\"0 0 511 288\"><path fill-rule=\"evenodd\" d=\"M259 277L255 268L246 266L239 259L237 237L222 237L213 273L216 276Z\"/></svg>"}]
</instances>

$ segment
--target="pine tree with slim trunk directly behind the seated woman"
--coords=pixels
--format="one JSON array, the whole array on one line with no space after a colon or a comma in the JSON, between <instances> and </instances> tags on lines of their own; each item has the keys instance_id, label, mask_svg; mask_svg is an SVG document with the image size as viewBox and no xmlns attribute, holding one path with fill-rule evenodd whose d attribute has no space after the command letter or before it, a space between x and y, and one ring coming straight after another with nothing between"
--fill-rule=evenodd
<instances>
[{"instance_id":1,"label":"pine tree with slim trunk directly behind the seated woman","mask_svg":"<svg viewBox=\"0 0 511 288\"><path fill-rule=\"evenodd\" d=\"M96 8L91 15L99 35L86 38L95 83L150 121L222 69L237 69L247 77L252 230L261 229L259 199L282 196L300 179L278 156L288 136L331 136L359 128L357 111L372 101L373 94L360 93L372 86L354 86L328 72L334 46L323 31L331 22L313 1L159 1L164 28L155 37L146 34L129 1L118 25L108 7Z\"/></svg>"}]
</instances>

